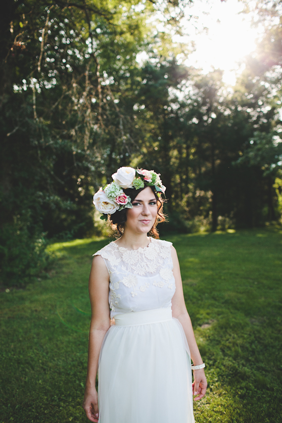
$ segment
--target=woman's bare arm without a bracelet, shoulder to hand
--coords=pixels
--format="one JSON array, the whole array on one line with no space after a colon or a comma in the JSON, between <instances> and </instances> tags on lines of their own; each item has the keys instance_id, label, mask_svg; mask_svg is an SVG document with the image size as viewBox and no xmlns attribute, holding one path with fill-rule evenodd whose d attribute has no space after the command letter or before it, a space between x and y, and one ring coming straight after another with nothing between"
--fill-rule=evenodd
<instances>
[{"instance_id":1,"label":"woman's bare arm without a bracelet, shoulder to hand","mask_svg":"<svg viewBox=\"0 0 282 423\"><path fill-rule=\"evenodd\" d=\"M105 333L110 327L108 294L109 273L102 257L95 256L89 277L92 317L89 332L86 386L83 400L83 408L91 422L98 422L99 417L95 380L101 345Z\"/></svg>"}]
</instances>

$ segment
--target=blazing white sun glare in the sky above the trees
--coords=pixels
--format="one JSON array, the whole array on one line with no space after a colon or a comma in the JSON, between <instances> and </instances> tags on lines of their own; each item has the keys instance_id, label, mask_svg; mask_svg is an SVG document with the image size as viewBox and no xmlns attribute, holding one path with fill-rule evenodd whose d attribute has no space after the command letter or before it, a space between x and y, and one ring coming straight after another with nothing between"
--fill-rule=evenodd
<instances>
[{"instance_id":1,"label":"blazing white sun glare in the sky above the trees","mask_svg":"<svg viewBox=\"0 0 282 423\"><path fill-rule=\"evenodd\" d=\"M251 28L250 16L240 13L243 4L237 0L200 1L187 9L187 14L197 16L198 27L207 28L200 34L186 20L184 28L195 40L195 51L185 60L188 66L224 71L224 81L234 85L236 71L242 68L243 57L256 47L258 30Z\"/></svg>"}]
</instances>

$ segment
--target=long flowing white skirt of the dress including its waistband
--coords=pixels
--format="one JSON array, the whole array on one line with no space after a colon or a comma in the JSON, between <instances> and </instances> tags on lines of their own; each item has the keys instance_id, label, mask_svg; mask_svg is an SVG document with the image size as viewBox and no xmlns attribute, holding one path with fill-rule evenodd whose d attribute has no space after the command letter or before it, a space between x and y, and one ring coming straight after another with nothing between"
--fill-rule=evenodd
<instances>
[{"instance_id":1,"label":"long flowing white skirt of the dress including its waistband","mask_svg":"<svg viewBox=\"0 0 282 423\"><path fill-rule=\"evenodd\" d=\"M98 367L99 423L193 423L191 362L171 309L115 316Z\"/></svg>"}]
</instances>

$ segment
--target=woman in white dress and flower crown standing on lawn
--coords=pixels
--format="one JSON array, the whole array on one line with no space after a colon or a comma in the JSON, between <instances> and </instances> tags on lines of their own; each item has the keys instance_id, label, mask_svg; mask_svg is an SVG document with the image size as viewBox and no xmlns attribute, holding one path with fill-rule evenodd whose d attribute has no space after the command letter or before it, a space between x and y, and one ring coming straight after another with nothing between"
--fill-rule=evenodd
<instances>
[{"instance_id":1,"label":"woman in white dress and flower crown standing on lawn","mask_svg":"<svg viewBox=\"0 0 282 423\"><path fill-rule=\"evenodd\" d=\"M83 407L91 422L192 423L192 394L201 399L207 381L176 250L156 239L165 187L154 171L122 167L112 177L93 202L121 236L94 254Z\"/></svg>"}]
</instances>

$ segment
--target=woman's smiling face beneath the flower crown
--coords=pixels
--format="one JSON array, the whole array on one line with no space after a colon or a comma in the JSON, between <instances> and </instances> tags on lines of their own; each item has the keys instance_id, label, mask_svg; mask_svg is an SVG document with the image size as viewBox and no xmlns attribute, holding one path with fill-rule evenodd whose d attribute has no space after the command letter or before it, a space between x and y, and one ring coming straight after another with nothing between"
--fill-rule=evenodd
<instances>
[{"instance_id":1,"label":"woman's smiling face beneath the flower crown","mask_svg":"<svg viewBox=\"0 0 282 423\"><path fill-rule=\"evenodd\" d=\"M155 223L157 213L157 200L151 188L147 187L132 201L132 209L127 210L125 229L147 234Z\"/></svg>"}]
</instances>

